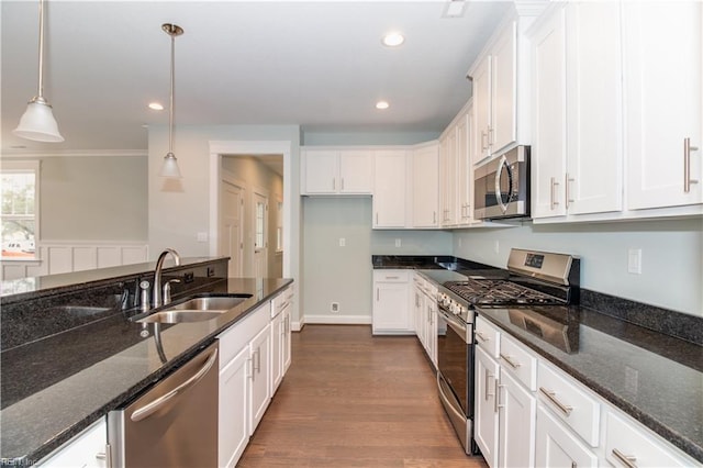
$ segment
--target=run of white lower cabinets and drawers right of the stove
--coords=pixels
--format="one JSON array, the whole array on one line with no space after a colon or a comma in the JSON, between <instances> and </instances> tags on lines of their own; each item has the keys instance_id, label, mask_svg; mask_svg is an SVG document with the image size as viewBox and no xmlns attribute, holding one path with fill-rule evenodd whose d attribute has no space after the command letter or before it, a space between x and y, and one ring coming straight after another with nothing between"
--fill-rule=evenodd
<instances>
[{"instance_id":1,"label":"run of white lower cabinets and drawers right of the stove","mask_svg":"<svg viewBox=\"0 0 703 468\"><path fill-rule=\"evenodd\" d=\"M473 438L491 468L701 465L481 316L476 336Z\"/></svg>"}]
</instances>

